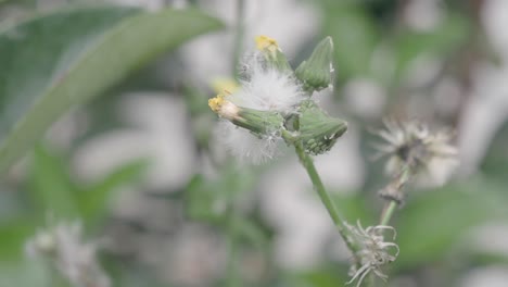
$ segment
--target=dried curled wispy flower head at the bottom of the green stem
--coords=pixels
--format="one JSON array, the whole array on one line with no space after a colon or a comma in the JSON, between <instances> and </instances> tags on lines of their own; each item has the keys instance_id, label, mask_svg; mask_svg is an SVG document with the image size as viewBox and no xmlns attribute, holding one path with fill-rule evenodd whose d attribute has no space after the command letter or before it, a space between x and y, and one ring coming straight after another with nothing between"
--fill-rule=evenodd
<instances>
[{"instance_id":1,"label":"dried curled wispy flower head at the bottom of the green stem","mask_svg":"<svg viewBox=\"0 0 508 287\"><path fill-rule=\"evenodd\" d=\"M358 279L356 284L356 287L358 287L370 272L373 272L373 274L383 280L386 280L388 275L381 271L381 267L395 261L398 257L399 250L396 244L384 241L383 232L386 229L392 230L392 240L395 240L395 229L392 226L384 225L364 228L359 221L356 226L346 225L361 246L361 249L356 253L357 258L359 258L358 263L360 267L357 269L356 265L352 265L352 269L350 270L352 278L346 284L351 284ZM392 250L395 250L395 254L391 252Z\"/></svg>"}]
</instances>

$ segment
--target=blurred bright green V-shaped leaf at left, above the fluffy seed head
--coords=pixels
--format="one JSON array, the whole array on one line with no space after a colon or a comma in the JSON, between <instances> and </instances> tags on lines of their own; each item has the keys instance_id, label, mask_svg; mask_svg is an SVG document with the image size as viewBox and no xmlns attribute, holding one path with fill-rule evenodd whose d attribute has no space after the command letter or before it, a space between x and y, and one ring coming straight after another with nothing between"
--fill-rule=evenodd
<instances>
[{"instance_id":1,"label":"blurred bright green V-shaped leaf at left, above the fluffy seed head","mask_svg":"<svg viewBox=\"0 0 508 287\"><path fill-rule=\"evenodd\" d=\"M42 146L35 149L30 173L30 196L39 224L50 220L80 219L87 224L101 219L107 208L111 192L142 175L145 160L124 164L101 180L86 187L72 178L68 163Z\"/></svg>"}]
</instances>

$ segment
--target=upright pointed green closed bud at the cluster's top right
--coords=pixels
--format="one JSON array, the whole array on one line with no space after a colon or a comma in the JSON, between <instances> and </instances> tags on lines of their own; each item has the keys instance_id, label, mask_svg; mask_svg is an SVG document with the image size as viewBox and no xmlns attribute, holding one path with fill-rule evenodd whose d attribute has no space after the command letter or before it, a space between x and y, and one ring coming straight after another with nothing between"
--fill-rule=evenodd
<instances>
[{"instance_id":1,"label":"upright pointed green closed bud at the cluster's top right","mask_svg":"<svg viewBox=\"0 0 508 287\"><path fill-rule=\"evenodd\" d=\"M303 83L306 91L318 91L331 85L332 58L333 42L327 37L316 46L310 58L300 64L295 76Z\"/></svg>"}]
</instances>

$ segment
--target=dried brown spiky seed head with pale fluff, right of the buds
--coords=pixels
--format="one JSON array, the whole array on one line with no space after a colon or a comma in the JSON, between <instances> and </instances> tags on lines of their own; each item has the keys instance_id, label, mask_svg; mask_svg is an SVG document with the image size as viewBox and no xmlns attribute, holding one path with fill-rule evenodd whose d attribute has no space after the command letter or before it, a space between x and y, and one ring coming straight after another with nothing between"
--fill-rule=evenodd
<instances>
[{"instance_id":1,"label":"dried brown spiky seed head with pale fluff, right of the buds","mask_svg":"<svg viewBox=\"0 0 508 287\"><path fill-rule=\"evenodd\" d=\"M418 122L384 122L386 129L377 134L385 140L378 147L379 157L388 157L386 172L399 176L402 172L417 175L442 185L457 166L457 148L449 144L445 130L431 133Z\"/></svg>"}]
</instances>

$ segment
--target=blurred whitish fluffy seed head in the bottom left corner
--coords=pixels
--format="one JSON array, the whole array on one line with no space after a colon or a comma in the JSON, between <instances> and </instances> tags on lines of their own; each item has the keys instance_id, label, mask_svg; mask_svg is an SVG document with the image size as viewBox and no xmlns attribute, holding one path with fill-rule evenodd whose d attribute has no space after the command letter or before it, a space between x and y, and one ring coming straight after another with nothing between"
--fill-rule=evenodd
<instances>
[{"instance_id":1,"label":"blurred whitish fluffy seed head in the bottom left corner","mask_svg":"<svg viewBox=\"0 0 508 287\"><path fill-rule=\"evenodd\" d=\"M81 240L81 225L60 224L28 240L26 253L47 258L76 287L109 287L110 279L96 259L97 246Z\"/></svg>"}]
</instances>

